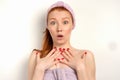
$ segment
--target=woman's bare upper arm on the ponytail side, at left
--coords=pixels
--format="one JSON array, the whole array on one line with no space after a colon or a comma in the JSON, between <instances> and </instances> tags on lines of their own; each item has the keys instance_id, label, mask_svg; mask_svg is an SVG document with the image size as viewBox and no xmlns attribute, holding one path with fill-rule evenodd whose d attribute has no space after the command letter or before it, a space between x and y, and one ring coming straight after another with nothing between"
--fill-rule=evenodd
<instances>
[{"instance_id":1,"label":"woman's bare upper arm on the ponytail side, at left","mask_svg":"<svg viewBox=\"0 0 120 80\"><path fill-rule=\"evenodd\" d=\"M31 52L31 55L29 57L29 62L28 62L28 80L32 80L33 74L34 74L34 69L36 66L36 54L38 53L39 50L34 49Z\"/></svg>"}]
</instances>

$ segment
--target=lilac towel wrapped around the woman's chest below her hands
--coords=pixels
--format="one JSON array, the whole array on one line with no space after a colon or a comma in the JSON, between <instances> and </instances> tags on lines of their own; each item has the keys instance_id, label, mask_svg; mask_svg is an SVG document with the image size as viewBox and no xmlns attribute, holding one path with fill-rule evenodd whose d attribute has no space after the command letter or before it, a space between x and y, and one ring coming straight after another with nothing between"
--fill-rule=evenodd
<instances>
[{"instance_id":1,"label":"lilac towel wrapped around the woman's chest below her hands","mask_svg":"<svg viewBox=\"0 0 120 80\"><path fill-rule=\"evenodd\" d=\"M44 80L77 80L76 72L71 69L46 70Z\"/></svg>"}]
</instances>

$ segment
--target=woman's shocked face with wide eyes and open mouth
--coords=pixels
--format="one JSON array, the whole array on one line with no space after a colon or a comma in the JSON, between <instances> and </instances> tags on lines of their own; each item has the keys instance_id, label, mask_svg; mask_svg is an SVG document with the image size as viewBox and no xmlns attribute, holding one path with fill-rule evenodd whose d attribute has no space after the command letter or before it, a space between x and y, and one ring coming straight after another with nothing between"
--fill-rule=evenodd
<instances>
[{"instance_id":1,"label":"woman's shocked face with wide eyes and open mouth","mask_svg":"<svg viewBox=\"0 0 120 80\"><path fill-rule=\"evenodd\" d=\"M66 10L53 10L48 14L48 30L53 43L64 44L69 41L73 29L72 16Z\"/></svg>"}]
</instances>

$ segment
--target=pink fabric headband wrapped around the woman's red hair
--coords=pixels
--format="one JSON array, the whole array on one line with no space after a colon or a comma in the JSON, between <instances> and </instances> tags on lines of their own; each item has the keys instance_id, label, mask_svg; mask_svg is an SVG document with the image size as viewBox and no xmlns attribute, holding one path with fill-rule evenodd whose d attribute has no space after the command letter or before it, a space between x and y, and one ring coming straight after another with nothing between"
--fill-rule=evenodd
<instances>
[{"instance_id":1,"label":"pink fabric headband wrapped around the woman's red hair","mask_svg":"<svg viewBox=\"0 0 120 80\"><path fill-rule=\"evenodd\" d=\"M55 7L64 7L66 8L71 14L72 14L72 17L73 17L73 28L75 27L75 16L74 16L74 12L73 12L73 9L66 3L62 2L62 1L58 1L56 3L54 3L53 5L50 6L50 8L48 9L47 11L47 15L49 13L49 11L52 9L52 8L55 8Z\"/></svg>"}]
</instances>

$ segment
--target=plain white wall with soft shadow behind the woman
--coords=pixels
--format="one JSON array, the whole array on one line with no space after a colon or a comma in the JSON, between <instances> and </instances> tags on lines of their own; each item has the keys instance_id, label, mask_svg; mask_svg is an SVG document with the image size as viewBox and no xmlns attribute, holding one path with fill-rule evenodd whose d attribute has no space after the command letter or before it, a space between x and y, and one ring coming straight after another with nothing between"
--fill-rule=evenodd
<instances>
[{"instance_id":1,"label":"plain white wall with soft shadow behind the woman","mask_svg":"<svg viewBox=\"0 0 120 80\"><path fill-rule=\"evenodd\" d=\"M0 80L27 80L45 13L57 0L0 0ZM120 0L63 0L76 15L71 44L94 53L97 80L120 80Z\"/></svg>"}]
</instances>

